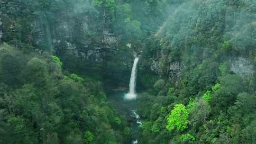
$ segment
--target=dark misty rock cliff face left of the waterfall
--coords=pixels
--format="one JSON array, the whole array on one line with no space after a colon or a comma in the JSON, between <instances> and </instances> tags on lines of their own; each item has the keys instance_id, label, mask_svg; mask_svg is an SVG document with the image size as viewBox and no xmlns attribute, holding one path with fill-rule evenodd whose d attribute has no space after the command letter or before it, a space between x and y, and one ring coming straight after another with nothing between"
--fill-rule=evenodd
<instances>
[{"instance_id":1,"label":"dark misty rock cliff face left of the waterfall","mask_svg":"<svg viewBox=\"0 0 256 144\"><path fill-rule=\"evenodd\" d=\"M31 13L29 21L3 17L0 39L24 51L33 45L39 54L46 51L58 55L70 72L79 69L107 81L127 84L134 50L102 23L95 8L88 9L37 11Z\"/></svg>"}]
</instances>

